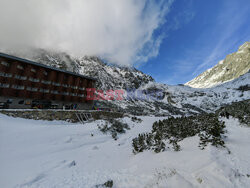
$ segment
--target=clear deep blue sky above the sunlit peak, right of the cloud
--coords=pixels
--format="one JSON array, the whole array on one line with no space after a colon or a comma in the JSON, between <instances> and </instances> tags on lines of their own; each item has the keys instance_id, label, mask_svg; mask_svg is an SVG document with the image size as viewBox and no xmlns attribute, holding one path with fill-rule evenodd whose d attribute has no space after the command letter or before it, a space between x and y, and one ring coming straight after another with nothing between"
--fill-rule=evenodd
<instances>
[{"instance_id":1,"label":"clear deep blue sky above the sunlit peak, right of the cloud","mask_svg":"<svg viewBox=\"0 0 250 188\"><path fill-rule=\"evenodd\" d=\"M137 67L157 82L186 83L250 41L249 0L176 0L165 19L158 56Z\"/></svg>"}]
</instances>

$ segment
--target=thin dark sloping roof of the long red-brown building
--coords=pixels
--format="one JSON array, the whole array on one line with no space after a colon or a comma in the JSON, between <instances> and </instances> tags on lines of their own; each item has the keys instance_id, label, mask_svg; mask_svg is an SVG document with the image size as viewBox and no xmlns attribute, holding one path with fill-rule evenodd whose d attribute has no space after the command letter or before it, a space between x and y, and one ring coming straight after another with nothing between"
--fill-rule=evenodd
<instances>
[{"instance_id":1,"label":"thin dark sloping roof of the long red-brown building","mask_svg":"<svg viewBox=\"0 0 250 188\"><path fill-rule=\"evenodd\" d=\"M23 59L23 58L15 57L15 56L12 56L12 55L4 54L4 53L1 53L1 52L0 52L0 57L4 57L4 58L16 60L16 61L21 61L23 63L36 65L36 66L43 67L43 68L46 68L46 69L51 69L51 70L55 70L55 71L58 71L58 72L63 72L63 73L71 74L71 75L74 75L74 76L79 76L79 77L82 77L82 78L85 78L85 79L88 79L88 80L96 81L95 78L91 78L91 77L88 77L88 76L83 76L81 74L77 74L77 73L70 72L70 71L65 71L65 70L62 70L62 69L59 69L59 68L47 66L47 65L44 65L44 64L41 64L41 63L37 63L37 62L30 61L30 60L27 60L27 59Z\"/></svg>"}]
</instances>

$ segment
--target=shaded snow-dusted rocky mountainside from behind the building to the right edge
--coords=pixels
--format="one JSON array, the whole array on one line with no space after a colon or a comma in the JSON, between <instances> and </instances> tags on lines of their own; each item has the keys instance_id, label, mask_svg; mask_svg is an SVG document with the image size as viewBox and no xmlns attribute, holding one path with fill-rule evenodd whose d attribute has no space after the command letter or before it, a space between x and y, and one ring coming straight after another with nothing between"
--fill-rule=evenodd
<instances>
[{"instance_id":1,"label":"shaded snow-dusted rocky mountainside from behind the building to the right edge","mask_svg":"<svg viewBox=\"0 0 250 188\"><path fill-rule=\"evenodd\" d=\"M245 54L245 46L239 54ZM187 115L214 112L225 104L250 98L250 73L217 87L202 89L156 83L151 76L135 68L109 65L98 57L75 58L66 53L45 50L14 55L94 77L98 80L96 89L123 89L124 100L101 100L98 105L133 114ZM128 89L137 89L135 97L131 97ZM153 96L153 100L148 99L148 96Z\"/></svg>"}]
</instances>

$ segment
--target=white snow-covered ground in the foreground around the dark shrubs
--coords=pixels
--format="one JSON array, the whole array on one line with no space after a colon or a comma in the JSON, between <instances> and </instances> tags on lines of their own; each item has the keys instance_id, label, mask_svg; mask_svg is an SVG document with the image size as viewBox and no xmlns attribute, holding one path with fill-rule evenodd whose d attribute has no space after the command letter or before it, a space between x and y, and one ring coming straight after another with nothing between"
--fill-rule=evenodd
<instances>
[{"instance_id":1,"label":"white snow-covered ground in the foreground around the dark shrubs","mask_svg":"<svg viewBox=\"0 0 250 188\"><path fill-rule=\"evenodd\" d=\"M198 136L181 142L179 152L132 153L131 140L148 132L156 117L129 126L115 141L85 125L35 121L0 114L0 187L91 188L113 180L117 188L249 187L250 128L226 120L227 149L198 148ZM91 136L93 134L93 136Z\"/></svg>"}]
</instances>

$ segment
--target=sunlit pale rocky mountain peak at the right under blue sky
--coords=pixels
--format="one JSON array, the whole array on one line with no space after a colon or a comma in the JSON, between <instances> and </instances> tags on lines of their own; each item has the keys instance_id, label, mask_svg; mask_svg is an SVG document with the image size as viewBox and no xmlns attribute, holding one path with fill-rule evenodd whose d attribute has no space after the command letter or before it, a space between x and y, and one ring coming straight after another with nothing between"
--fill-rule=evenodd
<instances>
[{"instance_id":1,"label":"sunlit pale rocky mountain peak at the right under blue sky","mask_svg":"<svg viewBox=\"0 0 250 188\"><path fill-rule=\"evenodd\" d=\"M217 65L203 72L186 85L194 88L212 87L245 74L250 69L250 42L244 43L238 51L229 54Z\"/></svg>"}]
</instances>

